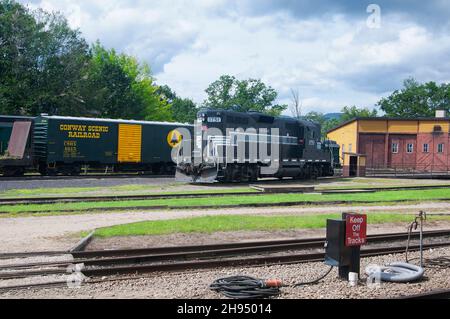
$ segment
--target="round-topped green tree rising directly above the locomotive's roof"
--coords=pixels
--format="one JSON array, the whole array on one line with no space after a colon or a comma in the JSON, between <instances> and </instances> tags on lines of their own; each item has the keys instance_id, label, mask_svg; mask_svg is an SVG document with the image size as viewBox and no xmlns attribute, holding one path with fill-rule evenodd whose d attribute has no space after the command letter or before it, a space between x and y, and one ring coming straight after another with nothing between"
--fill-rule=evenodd
<instances>
[{"instance_id":1,"label":"round-topped green tree rising directly above the locomotive's roof","mask_svg":"<svg viewBox=\"0 0 450 319\"><path fill-rule=\"evenodd\" d=\"M233 110L237 112L261 112L280 115L287 105L275 104L277 92L261 80L238 80L234 76L223 75L207 89L206 108Z\"/></svg>"}]
</instances>

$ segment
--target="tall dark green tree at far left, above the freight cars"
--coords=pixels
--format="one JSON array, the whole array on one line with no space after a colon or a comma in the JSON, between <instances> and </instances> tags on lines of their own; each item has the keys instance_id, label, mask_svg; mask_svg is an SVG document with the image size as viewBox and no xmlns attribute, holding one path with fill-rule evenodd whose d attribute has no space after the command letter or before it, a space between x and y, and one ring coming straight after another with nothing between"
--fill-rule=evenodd
<instances>
[{"instance_id":1,"label":"tall dark green tree at far left, above the freight cars","mask_svg":"<svg viewBox=\"0 0 450 319\"><path fill-rule=\"evenodd\" d=\"M67 114L85 107L89 46L60 14L0 0L0 111Z\"/></svg>"}]
</instances>

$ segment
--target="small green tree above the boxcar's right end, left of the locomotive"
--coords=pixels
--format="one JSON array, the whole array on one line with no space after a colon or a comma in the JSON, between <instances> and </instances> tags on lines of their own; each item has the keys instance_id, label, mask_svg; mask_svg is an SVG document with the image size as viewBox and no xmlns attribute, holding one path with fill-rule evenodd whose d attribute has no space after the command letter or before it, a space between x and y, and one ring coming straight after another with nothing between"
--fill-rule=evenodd
<instances>
[{"instance_id":1,"label":"small green tree above the boxcar's right end, left of the locomotive","mask_svg":"<svg viewBox=\"0 0 450 319\"><path fill-rule=\"evenodd\" d=\"M163 85L158 93L172 106L172 117L179 123L194 123L197 119L198 107L188 98L179 97L172 89Z\"/></svg>"}]
</instances>

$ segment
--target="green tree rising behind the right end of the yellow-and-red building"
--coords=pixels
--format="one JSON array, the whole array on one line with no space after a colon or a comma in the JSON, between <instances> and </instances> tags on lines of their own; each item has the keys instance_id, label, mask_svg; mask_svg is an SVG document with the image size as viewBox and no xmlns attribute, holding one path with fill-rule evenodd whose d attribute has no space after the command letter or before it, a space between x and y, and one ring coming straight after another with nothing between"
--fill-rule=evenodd
<instances>
[{"instance_id":1,"label":"green tree rising behind the right end of the yellow-and-red building","mask_svg":"<svg viewBox=\"0 0 450 319\"><path fill-rule=\"evenodd\" d=\"M436 110L450 111L450 84L420 84L410 78L404 81L403 86L402 90L397 90L378 102L377 105L387 116L432 117Z\"/></svg>"}]
</instances>

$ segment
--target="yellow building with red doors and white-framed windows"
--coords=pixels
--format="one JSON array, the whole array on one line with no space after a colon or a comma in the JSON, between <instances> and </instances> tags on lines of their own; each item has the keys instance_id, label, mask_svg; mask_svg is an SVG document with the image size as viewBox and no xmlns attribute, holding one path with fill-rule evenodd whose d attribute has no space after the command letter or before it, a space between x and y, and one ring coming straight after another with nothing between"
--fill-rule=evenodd
<instances>
[{"instance_id":1,"label":"yellow building with red doors and white-framed windows","mask_svg":"<svg viewBox=\"0 0 450 319\"><path fill-rule=\"evenodd\" d=\"M341 147L344 176L365 168L448 171L450 119L355 118L332 130L328 139Z\"/></svg>"}]
</instances>

